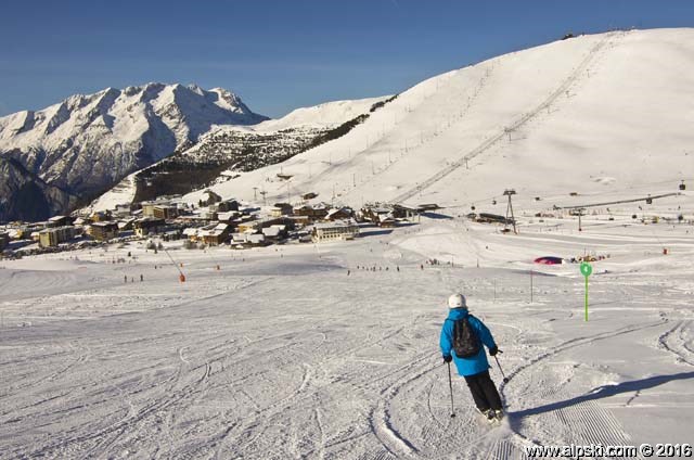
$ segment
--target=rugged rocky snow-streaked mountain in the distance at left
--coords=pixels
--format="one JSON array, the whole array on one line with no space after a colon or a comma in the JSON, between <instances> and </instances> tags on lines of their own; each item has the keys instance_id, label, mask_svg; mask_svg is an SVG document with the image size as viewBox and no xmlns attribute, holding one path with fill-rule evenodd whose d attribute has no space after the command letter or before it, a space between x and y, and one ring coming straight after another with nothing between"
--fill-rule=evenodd
<instances>
[{"instance_id":1,"label":"rugged rocky snow-streaked mountain in the distance at left","mask_svg":"<svg viewBox=\"0 0 694 460\"><path fill-rule=\"evenodd\" d=\"M265 119L220 88L206 91L163 84L108 88L0 118L0 155L16 159L51 186L86 197L189 146L215 125ZM61 210L65 209L51 208Z\"/></svg>"}]
</instances>

